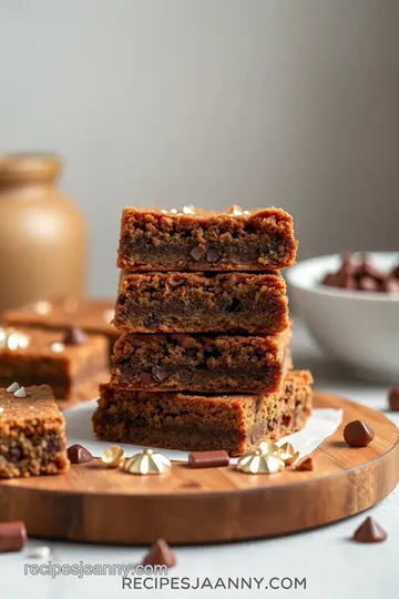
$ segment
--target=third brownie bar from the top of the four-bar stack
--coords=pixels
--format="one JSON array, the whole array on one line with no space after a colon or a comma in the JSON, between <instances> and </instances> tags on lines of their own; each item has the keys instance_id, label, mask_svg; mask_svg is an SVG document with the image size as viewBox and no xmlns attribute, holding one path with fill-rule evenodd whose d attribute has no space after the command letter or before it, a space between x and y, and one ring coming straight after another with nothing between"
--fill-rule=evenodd
<instances>
[{"instance_id":1,"label":"third brownie bar from the top of the four-bar stack","mask_svg":"<svg viewBox=\"0 0 399 599\"><path fill-rule=\"evenodd\" d=\"M290 331L275 336L133 335L114 346L111 385L132 390L275 393Z\"/></svg>"}]
</instances>

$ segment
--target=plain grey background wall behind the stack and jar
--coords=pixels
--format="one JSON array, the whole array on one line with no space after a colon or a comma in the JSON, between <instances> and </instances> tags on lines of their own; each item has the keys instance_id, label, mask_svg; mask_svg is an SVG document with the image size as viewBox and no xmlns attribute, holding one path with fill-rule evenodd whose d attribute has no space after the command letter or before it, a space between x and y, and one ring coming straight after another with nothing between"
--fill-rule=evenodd
<instances>
[{"instance_id":1,"label":"plain grey background wall behind the stack and jar","mask_svg":"<svg viewBox=\"0 0 399 599\"><path fill-rule=\"evenodd\" d=\"M114 295L125 204L280 205L396 248L398 0L0 0L0 148L50 149Z\"/></svg>"}]
</instances>

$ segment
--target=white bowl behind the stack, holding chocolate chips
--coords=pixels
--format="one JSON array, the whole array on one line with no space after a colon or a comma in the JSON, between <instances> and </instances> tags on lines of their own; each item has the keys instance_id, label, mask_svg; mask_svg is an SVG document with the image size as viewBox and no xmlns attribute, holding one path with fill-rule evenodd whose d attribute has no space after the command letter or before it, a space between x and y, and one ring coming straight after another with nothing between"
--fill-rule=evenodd
<instances>
[{"instance_id":1,"label":"white bowl behind the stack, holding chocolate chips","mask_svg":"<svg viewBox=\"0 0 399 599\"><path fill-rule=\"evenodd\" d=\"M398 253L370 252L389 272ZM332 358L368 380L399 384L399 294L356 292L321 285L340 256L305 260L287 271L290 297L310 333Z\"/></svg>"}]
</instances>

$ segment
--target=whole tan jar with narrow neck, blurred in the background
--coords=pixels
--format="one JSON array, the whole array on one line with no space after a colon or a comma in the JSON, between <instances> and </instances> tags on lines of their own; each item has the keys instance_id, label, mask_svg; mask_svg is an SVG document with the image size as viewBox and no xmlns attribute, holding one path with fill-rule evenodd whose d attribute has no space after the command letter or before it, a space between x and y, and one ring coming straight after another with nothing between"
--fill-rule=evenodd
<instances>
[{"instance_id":1,"label":"whole tan jar with narrow neck, blurred in the background","mask_svg":"<svg viewBox=\"0 0 399 599\"><path fill-rule=\"evenodd\" d=\"M54 155L0 155L0 315L84 292L85 222L57 189L60 171Z\"/></svg>"}]
</instances>

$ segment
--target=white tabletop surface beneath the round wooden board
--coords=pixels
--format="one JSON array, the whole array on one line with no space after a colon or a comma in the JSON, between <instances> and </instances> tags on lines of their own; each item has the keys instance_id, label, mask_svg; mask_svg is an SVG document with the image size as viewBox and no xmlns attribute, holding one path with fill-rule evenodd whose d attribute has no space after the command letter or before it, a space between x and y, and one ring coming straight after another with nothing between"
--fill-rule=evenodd
<instances>
[{"instance_id":1,"label":"white tabletop surface beneath the round wooden board","mask_svg":"<svg viewBox=\"0 0 399 599\"><path fill-rule=\"evenodd\" d=\"M376 409L387 406L387 389L372 387L354 380L350 376L331 365L324 358L304 328L295 327L294 356L296 367L310 368L316 386L323 390L338 393ZM399 425L399 414L392 415ZM317 500L317 498L316 498ZM21 554L0 555L0 597L1 599L72 599L95 597L98 599L116 599L135 597L170 599L176 596L186 598L219 598L269 596L274 599L304 597L306 599L396 599L398 596L397 556L399 554L399 497L397 490L387 499L368 511L388 531L387 542L378 545L358 545L350 541L356 527L365 519L365 514L355 516L335 525L317 530L291 535L283 538L257 540L238 544L208 545L202 547L178 547L175 549L177 566L170 570L168 578L176 577L174 585L182 583L187 577L195 587L196 579L209 579L216 585L218 578L227 583L233 579L253 578L252 590L225 590L204 588L176 590L164 587L162 590L122 589L122 580L117 576L25 576L27 564L47 564L45 560L29 558L29 552L38 546L51 548L50 560L54 564L137 564L145 548L122 548L112 546L92 546L65 542L43 542L30 539ZM1 518L1 514L0 514ZM129 526L129 514L126 515ZM201 526L201 522L198 522ZM265 590L264 586L272 578L306 578L306 589ZM260 590L256 589L254 579L264 579ZM149 582L154 583L155 578ZM157 583L160 578L157 577ZM206 582L205 582L206 583ZM274 582L277 585L277 581Z\"/></svg>"}]
</instances>

